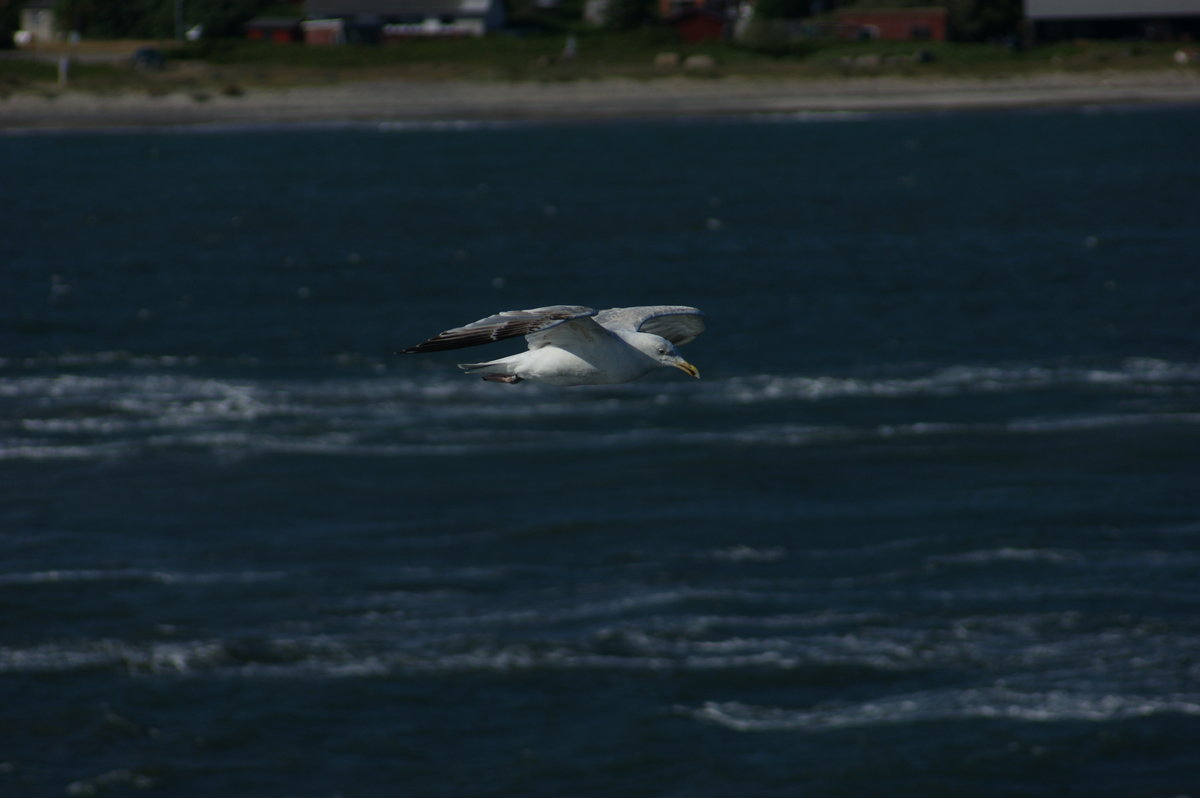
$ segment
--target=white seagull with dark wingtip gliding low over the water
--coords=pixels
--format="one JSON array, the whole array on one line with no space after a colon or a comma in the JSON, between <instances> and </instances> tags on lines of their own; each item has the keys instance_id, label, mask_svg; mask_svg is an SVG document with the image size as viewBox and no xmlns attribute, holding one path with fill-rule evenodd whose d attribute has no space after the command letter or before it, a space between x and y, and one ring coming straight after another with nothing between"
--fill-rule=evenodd
<instances>
[{"instance_id":1,"label":"white seagull with dark wingtip gliding low over the water","mask_svg":"<svg viewBox=\"0 0 1200 798\"><path fill-rule=\"evenodd\" d=\"M704 331L704 314L684 305L646 305L595 311L582 305L550 305L503 311L440 332L400 354L475 347L523 335L529 343L499 360L458 367L492 383L528 379L550 385L628 383L655 368L678 368L700 377L677 346Z\"/></svg>"}]
</instances>

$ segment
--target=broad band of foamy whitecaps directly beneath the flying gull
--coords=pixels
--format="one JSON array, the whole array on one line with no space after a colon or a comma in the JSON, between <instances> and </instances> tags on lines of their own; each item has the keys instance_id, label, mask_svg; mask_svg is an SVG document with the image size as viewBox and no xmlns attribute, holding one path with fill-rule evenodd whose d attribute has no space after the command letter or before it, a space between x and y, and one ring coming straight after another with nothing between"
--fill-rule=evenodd
<instances>
[{"instance_id":1,"label":"broad band of foamy whitecaps directly beneath the flying gull","mask_svg":"<svg viewBox=\"0 0 1200 798\"><path fill-rule=\"evenodd\" d=\"M256 367L235 366L253 374ZM221 456L463 455L638 446L811 446L952 436L1050 434L1157 425L1195 426L1181 410L1200 384L1200 364L1130 359L1104 368L954 366L907 377L732 377L700 384L647 380L570 391L530 385L497 390L456 376L368 374L296 379L196 373L194 359L96 353L0 362L0 460L120 460L146 451ZM120 368L120 371L114 371ZM28 373L29 370L58 373ZM67 372L67 373L62 373ZM958 397L1088 388L1146 402L1114 412L994 421L913 420L800 424L774 406L874 397ZM1127 404L1129 404L1127 402ZM763 413L742 408L761 406ZM1024 403L1022 403L1024 406ZM731 414L730 410L738 410ZM718 413L719 415L712 415ZM776 418L770 418L772 415ZM624 420L636 416L638 422ZM685 421L679 421L686 416ZM660 424L647 422L661 418ZM732 422L732 425L731 425Z\"/></svg>"}]
</instances>

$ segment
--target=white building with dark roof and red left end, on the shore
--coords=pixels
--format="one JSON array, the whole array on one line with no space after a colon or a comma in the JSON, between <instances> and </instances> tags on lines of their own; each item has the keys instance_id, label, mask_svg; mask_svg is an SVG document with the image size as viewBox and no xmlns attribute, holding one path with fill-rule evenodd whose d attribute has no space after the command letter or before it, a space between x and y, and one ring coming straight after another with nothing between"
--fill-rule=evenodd
<instances>
[{"instance_id":1,"label":"white building with dark roof and red left end, on the shore","mask_svg":"<svg viewBox=\"0 0 1200 798\"><path fill-rule=\"evenodd\" d=\"M503 0L306 0L311 22L338 20L340 41L376 42L410 36L482 36L504 26ZM305 38L337 38L305 23ZM325 43L322 41L320 43ZM329 42L335 43L335 42Z\"/></svg>"}]
</instances>

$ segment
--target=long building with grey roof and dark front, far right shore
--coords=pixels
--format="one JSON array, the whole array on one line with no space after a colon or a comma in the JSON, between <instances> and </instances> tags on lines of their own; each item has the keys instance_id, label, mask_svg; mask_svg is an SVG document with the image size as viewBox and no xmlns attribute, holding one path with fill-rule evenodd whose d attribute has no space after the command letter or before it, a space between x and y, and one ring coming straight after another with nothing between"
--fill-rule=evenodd
<instances>
[{"instance_id":1,"label":"long building with grey roof and dark front, far right shore","mask_svg":"<svg viewBox=\"0 0 1200 798\"><path fill-rule=\"evenodd\" d=\"M1025 0L1036 42L1200 38L1200 0Z\"/></svg>"}]
</instances>

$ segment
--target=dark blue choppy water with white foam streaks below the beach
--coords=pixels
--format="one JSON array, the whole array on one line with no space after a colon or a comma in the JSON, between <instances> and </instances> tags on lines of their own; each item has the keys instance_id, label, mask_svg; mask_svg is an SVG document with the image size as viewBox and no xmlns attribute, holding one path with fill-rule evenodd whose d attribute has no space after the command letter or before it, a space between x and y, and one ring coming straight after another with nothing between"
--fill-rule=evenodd
<instances>
[{"instance_id":1,"label":"dark blue choppy water with white foam streaks below the beach","mask_svg":"<svg viewBox=\"0 0 1200 798\"><path fill-rule=\"evenodd\" d=\"M1196 142L0 138L0 793L1200 794ZM703 379L392 355L557 302Z\"/></svg>"}]
</instances>

